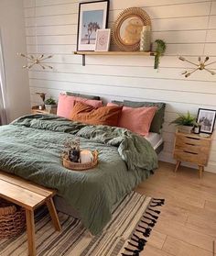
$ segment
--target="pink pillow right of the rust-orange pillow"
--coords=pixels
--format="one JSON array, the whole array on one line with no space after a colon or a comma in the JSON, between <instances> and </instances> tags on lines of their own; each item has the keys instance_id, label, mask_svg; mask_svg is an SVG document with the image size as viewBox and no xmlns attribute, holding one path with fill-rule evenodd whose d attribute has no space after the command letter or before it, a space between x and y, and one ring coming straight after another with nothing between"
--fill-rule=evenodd
<instances>
[{"instance_id":1,"label":"pink pillow right of the rust-orange pillow","mask_svg":"<svg viewBox=\"0 0 216 256\"><path fill-rule=\"evenodd\" d=\"M108 103L107 106L116 106ZM139 135L146 136L148 134L151 122L157 107L129 107L124 106L122 115L118 121L118 127L127 128Z\"/></svg>"}]
</instances>

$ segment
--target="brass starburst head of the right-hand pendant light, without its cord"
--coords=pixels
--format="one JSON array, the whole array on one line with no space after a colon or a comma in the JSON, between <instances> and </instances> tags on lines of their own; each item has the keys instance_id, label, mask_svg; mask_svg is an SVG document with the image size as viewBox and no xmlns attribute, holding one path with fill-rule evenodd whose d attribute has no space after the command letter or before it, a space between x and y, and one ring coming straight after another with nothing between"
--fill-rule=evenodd
<instances>
[{"instance_id":1,"label":"brass starburst head of the right-hand pendant light, without its cord","mask_svg":"<svg viewBox=\"0 0 216 256\"><path fill-rule=\"evenodd\" d=\"M216 61L213 61L213 62L211 62L211 63L209 63L209 64L206 64L206 62L210 60L210 57L208 57L208 56L206 56L204 60L202 60L201 57L199 57L199 58L198 58L198 61L199 61L198 64L196 64L196 63L194 63L194 62L192 62L192 61L188 61L186 58L184 58L184 57L182 57L182 56L180 56L178 59L179 59L180 61L189 62L190 64L196 66L196 67L195 67L194 69L192 69L191 71L184 71L184 72L182 72L181 74L184 74L185 77L189 77L193 72L196 72L196 71L199 71L199 70L200 70L200 71L205 70L206 72L210 72L212 75L216 74L216 72L213 72L213 71L211 71L210 69L207 69L207 68L206 68L207 66L209 66L209 65L211 65L211 64L213 64L213 63L216 63Z\"/></svg>"}]
</instances>

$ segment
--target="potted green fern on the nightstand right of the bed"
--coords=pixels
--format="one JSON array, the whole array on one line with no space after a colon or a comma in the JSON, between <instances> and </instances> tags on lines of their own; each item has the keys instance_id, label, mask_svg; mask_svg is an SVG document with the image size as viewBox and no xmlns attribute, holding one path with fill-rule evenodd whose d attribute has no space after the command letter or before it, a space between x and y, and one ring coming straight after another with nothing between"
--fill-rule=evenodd
<instances>
[{"instance_id":1,"label":"potted green fern on the nightstand right of the bed","mask_svg":"<svg viewBox=\"0 0 216 256\"><path fill-rule=\"evenodd\" d=\"M196 124L196 117L191 116L188 111L186 115L178 114L178 118L170 122L170 124L178 126L179 132L191 133Z\"/></svg>"}]
</instances>

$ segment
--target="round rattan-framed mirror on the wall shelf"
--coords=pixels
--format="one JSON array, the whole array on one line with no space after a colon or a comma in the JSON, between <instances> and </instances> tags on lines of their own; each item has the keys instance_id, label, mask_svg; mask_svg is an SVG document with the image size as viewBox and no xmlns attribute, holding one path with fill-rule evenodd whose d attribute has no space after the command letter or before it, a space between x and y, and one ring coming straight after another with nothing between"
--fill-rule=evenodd
<instances>
[{"instance_id":1,"label":"round rattan-framed mirror on the wall shelf","mask_svg":"<svg viewBox=\"0 0 216 256\"><path fill-rule=\"evenodd\" d=\"M113 42L120 50L139 50L143 26L151 27L151 19L143 9L137 7L125 9L113 24Z\"/></svg>"}]
</instances>

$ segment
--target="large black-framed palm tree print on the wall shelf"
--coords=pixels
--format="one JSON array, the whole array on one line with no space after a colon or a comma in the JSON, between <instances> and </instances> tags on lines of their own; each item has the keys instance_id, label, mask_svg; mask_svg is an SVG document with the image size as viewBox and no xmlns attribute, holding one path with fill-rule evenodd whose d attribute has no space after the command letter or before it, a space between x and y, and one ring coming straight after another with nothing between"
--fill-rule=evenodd
<instances>
[{"instance_id":1,"label":"large black-framed palm tree print on the wall shelf","mask_svg":"<svg viewBox=\"0 0 216 256\"><path fill-rule=\"evenodd\" d=\"M109 0L80 3L77 50L95 50L96 32L107 27Z\"/></svg>"}]
</instances>

